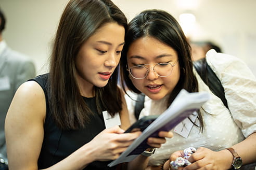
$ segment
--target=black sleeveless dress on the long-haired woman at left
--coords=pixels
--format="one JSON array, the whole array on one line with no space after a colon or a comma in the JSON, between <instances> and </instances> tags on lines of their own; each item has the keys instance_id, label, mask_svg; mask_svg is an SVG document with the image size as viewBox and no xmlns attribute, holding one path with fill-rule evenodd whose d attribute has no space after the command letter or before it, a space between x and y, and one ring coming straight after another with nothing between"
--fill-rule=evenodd
<instances>
[{"instance_id":1,"label":"black sleeveless dress on the long-haired woman at left","mask_svg":"<svg viewBox=\"0 0 256 170\"><path fill-rule=\"evenodd\" d=\"M44 123L44 140L38 160L39 169L52 166L62 159L65 159L75 150L79 149L89 141L91 141L98 133L103 131L105 127L102 114L98 114L96 109L95 97L86 98L84 101L94 112L91 121L88 122L86 128L80 130L60 130L50 116L48 93L47 93L48 74L37 76L29 81L36 81L40 84L45 93L46 98L46 119ZM82 157L82 155L81 155ZM116 169L117 167L108 167L111 161L90 163L84 169Z\"/></svg>"}]
</instances>

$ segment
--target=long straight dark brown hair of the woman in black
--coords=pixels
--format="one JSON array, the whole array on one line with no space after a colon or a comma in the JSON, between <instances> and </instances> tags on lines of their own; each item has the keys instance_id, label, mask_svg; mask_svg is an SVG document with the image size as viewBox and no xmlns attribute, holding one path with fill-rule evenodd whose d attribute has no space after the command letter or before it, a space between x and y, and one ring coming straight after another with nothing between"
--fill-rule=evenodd
<instances>
[{"instance_id":1,"label":"long straight dark brown hair of the woman in black","mask_svg":"<svg viewBox=\"0 0 256 170\"><path fill-rule=\"evenodd\" d=\"M111 22L122 25L126 32L126 17L110 0L71 0L62 13L49 71L50 110L61 129L79 129L89 121L92 111L79 91L75 58L85 41ZM105 87L94 88L98 111L104 107L114 115L122 109L117 79L116 69Z\"/></svg>"}]
</instances>

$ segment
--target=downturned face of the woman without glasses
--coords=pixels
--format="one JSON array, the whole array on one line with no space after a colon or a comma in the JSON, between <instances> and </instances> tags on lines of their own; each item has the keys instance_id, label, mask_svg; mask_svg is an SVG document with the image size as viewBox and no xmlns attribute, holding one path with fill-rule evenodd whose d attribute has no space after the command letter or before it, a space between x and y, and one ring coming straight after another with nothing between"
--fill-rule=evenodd
<instances>
[{"instance_id":1,"label":"downturned face of the woman without glasses","mask_svg":"<svg viewBox=\"0 0 256 170\"><path fill-rule=\"evenodd\" d=\"M119 63L124 45L124 33L123 26L107 23L82 45L75 59L82 95L93 95L93 86L106 86Z\"/></svg>"}]
</instances>

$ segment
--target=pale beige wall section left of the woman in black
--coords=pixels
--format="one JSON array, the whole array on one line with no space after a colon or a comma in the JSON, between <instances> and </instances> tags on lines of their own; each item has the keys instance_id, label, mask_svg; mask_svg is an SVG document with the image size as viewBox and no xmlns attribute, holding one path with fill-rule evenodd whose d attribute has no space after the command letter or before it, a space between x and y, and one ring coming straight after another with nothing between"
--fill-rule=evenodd
<instances>
[{"instance_id":1,"label":"pale beige wall section left of the woman in black","mask_svg":"<svg viewBox=\"0 0 256 170\"><path fill-rule=\"evenodd\" d=\"M0 0L5 12L3 37L17 51L29 55L37 75L47 72L48 57L59 18L67 0Z\"/></svg>"}]
</instances>

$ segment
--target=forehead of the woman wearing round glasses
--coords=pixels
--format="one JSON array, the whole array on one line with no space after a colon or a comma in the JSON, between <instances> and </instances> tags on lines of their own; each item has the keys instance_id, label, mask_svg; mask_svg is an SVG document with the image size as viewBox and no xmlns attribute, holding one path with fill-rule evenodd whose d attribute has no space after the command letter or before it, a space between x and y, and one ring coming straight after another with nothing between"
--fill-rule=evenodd
<instances>
[{"instance_id":1,"label":"forehead of the woman wearing round glasses","mask_svg":"<svg viewBox=\"0 0 256 170\"><path fill-rule=\"evenodd\" d=\"M142 37L135 40L127 51L129 59L134 56L143 60L156 60L164 57L173 60L178 58L177 52L172 47L153 37Z\"/></svg>"}]
</instances>

